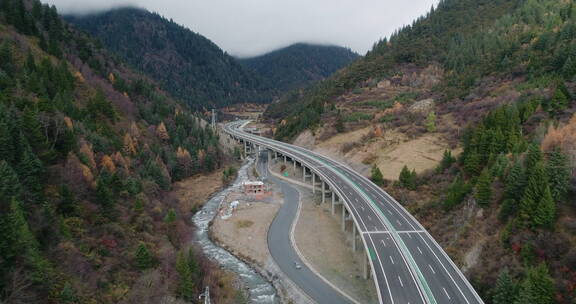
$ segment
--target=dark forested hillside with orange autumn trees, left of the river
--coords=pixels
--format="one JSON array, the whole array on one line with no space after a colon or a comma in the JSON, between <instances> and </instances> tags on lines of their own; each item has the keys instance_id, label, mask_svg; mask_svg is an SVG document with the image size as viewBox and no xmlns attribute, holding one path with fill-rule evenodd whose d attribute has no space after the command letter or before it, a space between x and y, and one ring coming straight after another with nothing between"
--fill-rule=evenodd
<instances>
[{"instance_id":1,"label":"dark forested hillside with orange autumn trees, left of the river","mask_svg":"<svg viewBox=\"0 0 576 304\"><path fill-rule=\"evenodd\" d=\"M218 294L166 192L221 162L209 128L54 7L1 2L0 302Z\"/></svg>"}]
</instances>

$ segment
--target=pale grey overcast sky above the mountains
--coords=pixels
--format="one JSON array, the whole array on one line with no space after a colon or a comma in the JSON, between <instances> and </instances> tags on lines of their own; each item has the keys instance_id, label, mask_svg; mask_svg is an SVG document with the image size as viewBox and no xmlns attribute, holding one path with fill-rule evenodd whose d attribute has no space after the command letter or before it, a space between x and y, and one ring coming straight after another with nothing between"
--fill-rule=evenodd
<instances>
[{"instance_id":1,"label":"pale grey overcast sky above the mountains","mask_svg":"<svg viewBox=\"0 0 576 304\"><path fill-rule=\"evenodd\" d=\"M44 0L61 13L133 5L172 18L228 53L255 56L295 42L365 54L438 0Z\"/></svg>"}]
</instances>

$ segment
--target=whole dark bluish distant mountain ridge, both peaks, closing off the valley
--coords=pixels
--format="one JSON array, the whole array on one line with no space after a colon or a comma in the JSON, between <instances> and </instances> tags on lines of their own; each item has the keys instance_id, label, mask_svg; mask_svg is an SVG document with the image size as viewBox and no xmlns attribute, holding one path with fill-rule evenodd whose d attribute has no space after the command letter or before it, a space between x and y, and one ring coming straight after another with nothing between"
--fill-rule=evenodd
<instances>
[{"instance_id":1,"label":"whole dark bluish distant mountain ridge, both peaks, closing off the valley","mask_svg":"<svg viewBox=\"0 0 576 304\"><path fill-rule=\"evenodd\" d=\"M299 43L236 59L201 34L134 7L65 19L197 109L271 102L328 77L358 57L342 47Z\"/></svg>"}]
</instances>

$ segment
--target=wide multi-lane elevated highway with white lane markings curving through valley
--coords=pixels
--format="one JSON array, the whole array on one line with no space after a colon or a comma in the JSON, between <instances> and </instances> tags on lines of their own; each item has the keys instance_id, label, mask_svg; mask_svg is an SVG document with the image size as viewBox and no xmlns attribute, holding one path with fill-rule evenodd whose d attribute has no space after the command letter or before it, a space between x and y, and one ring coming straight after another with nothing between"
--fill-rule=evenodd
<instances>
[{"instance_id":1,"label":"wide multi-lane elevated highway with white lane markings curving through valley","mask_svg":"<svg viewBox=\"0 0 576 304\"><path fill-rule=\"evenodd\" d=\"M343 200L368 253L380 303L483 303L439 244L388 193L344 164L244 132L245 124L229 123L224 131L296 160Z\"/></svg>"}]
</instances>

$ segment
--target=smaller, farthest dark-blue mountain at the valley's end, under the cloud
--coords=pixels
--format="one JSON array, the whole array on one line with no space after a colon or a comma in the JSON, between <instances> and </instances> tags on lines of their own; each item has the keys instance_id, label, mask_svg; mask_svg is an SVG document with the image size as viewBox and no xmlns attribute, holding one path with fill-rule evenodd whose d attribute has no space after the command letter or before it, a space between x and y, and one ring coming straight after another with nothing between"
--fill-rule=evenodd
<instances>
[{"instance_id":1,"label":"smaller, farthest dark-blue mountain at the valley's end, under the cloud","mask_svg":"<svg viewBox=\"0 0 576 304\"><path fill-rule=\"evenodd\" d=\"M356 58L343 47L298 43L240 63L255 71L266 87L285 93L322 80Z\"/></svg>"}]
</instances>

